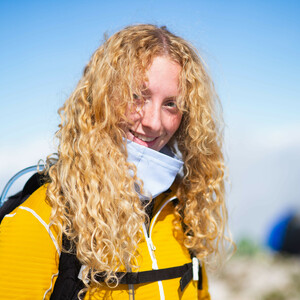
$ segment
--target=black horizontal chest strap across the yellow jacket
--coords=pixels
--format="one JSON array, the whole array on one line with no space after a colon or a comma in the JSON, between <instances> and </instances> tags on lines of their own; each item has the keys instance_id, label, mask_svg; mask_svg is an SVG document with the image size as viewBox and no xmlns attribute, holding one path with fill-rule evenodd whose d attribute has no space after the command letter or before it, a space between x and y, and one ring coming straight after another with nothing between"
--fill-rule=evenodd
<instances>
[{"instance_id":1,"label":"black horizontal chest strap across the yellow jacket","mask_svg":"<svg viewBox=\"0 0 300 300\"><path fill-rule=\"evenodd\" d=\"M187 284L193 278L193 266L192 263L185 264L179 267L172 267L159 270L143 271L143 272L116 272L116 276L119 278L120 284L139 284L149 283L155 281L162 281L174 278L180 278L180 289L183 291ZM200 277L201 276L201 277ZM105 281L105 274L98 274L96 276L98 282ZM200 282L201 281L201 282ZM199 281L198 289L202 289L202 271L199 266Z\"/></svg>"}]
</instances>

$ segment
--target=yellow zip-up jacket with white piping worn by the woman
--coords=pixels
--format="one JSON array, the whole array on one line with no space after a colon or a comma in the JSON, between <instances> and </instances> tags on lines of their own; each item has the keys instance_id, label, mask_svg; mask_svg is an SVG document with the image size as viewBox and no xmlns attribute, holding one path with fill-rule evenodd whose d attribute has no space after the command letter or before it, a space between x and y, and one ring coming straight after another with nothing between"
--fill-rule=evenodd
<instances>
[{"instance_id":1,"label":"yellow zip-up jacket with white piping worn by the woman","mask_svg":"<svg viewBox=\"0 0 300 300\"><path fill-rule=\"evenodd\" d=\"M4 217L0 225L0 299L50 299L58 275L60 242L49 229L51 207L45 202L46 187L35 191L21 206ZM139 244L139 271L181 266L191 262L187 249L174 236L174 194L155 200L150 232ZM144 228L144 231L147 231ZM151 250L151 247L155 249ZM134 299L210 299L202 268L203 289L191 281L183 292L180 278L134 285ZM163 298L165 297L165 298ZM111 289L103 284L87 299L131 299L128 286Z\"/></svg>"}]
</instances>

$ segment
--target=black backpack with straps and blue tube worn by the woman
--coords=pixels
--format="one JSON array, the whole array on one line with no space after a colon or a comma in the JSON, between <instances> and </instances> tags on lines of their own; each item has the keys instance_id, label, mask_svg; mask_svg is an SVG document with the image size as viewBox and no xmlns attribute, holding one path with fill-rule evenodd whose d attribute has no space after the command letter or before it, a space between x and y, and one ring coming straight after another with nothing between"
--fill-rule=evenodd
<instances>
[{"instance_id":1,"label":"black backpack with straps and blue tube worn by the woman","mask_svg":"<svg viewBox=\"0 0 300 300\"><path fill-rule=\"evenodd\" d=\"M34 167L36 170L36 166ZM26 168L27 172L32 171L34 167ZM12 179L5 186L3 193L1 194L1 201L3 201L3 199L5 198L5 195L7 193L7 186L9 188L12 185L13 181L18 178L18 174L24 174L24 170L22 170L23 173L22 171L20 171L14 177L12 177ZM34 191L41 187L46 181L47 176L39 173L33 174L24 185L22 191L19 191L15 195L10 196L0 207L0 224L6 214L9 214L16 207L25 202L26 199ZM64 235L62 243L66 249L69 248L70 242ZM63 251L61 252L58 266L59 273L50 300L78 300L84 298L85 293L82 293L81 297L78 298L79 291L85 287L83 281L78 277L81 267L82 264L77 259L75 254L66 253ZM199 265L198 260L195 261L195 259L193 259L192 263L188 263L182 266L143 272L117 272L116 275L119 278L120 284L128 285L181 278L180 289L181 291L183 291L186 285L193 279L193 276L195 276L195 269L198 269L198 274L196 274L196 277L198 278L198 289L201 290L202 268L201 265ZM96 279L99 282L104 282L105 275L100 274L96 276Z\"/></svg>"}]
</instances>

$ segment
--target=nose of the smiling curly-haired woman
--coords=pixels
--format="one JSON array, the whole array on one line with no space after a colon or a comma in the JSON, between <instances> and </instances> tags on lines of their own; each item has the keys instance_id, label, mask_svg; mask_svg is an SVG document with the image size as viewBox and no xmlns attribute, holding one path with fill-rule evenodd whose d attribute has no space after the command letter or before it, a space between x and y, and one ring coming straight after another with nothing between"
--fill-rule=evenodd
<instances>
[{"instance_id":1,"label":"nose of the smiling curly-haired woman","mask_svg":"<svg viewBox=\"0 0 300 300\"><path fill-rule=\"evenodd\" d=\"M158 133L162 127L162 115L159 106L154 103L145 104L143 107L143 115L141 124L143 127L151 130L153 133Z\"/></svg>"}]
</instances>

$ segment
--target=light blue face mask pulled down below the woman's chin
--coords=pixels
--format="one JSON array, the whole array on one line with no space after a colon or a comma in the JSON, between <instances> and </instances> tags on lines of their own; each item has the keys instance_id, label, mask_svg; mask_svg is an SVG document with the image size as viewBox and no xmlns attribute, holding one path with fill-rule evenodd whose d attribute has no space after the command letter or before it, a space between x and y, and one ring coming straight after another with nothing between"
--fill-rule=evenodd
<instances>
[{"instance_id":1,"label":"light blue face mask pulled down below the woman's chin","mask_svg":"<svg viewBox=\"0 0 300 300\"><path fill-rule=\"evenodd\" d=\"M183 165L167 146L158 152L127 140L127 152L128 162L135 164L137 176L144 183L144 193L140 195L143 199L168 190Z\"/></svg>"}]
</instances>

